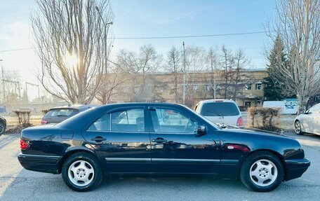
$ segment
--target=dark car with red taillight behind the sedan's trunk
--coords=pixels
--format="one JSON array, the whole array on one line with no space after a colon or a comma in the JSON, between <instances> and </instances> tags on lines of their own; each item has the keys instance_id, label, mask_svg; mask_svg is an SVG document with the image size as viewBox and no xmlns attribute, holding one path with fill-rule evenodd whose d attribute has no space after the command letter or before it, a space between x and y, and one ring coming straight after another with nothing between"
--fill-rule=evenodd
<instances>
[{"instance_id":1,"label":"dark car with red taillight behind the sedan's trunk","mask_svg":"<svg viewBox=\"0 0 320 201\"><path fill-rule=\"evenodd\" d=\"M77 113L86 111L87 109L91 109L92 107L94 107L94 105L87 104L54 107L53 109L49 109L49 111L44 115L41 120L41 125L60 123L63 120L66 120Z\"/></svg>"}]
</instances>

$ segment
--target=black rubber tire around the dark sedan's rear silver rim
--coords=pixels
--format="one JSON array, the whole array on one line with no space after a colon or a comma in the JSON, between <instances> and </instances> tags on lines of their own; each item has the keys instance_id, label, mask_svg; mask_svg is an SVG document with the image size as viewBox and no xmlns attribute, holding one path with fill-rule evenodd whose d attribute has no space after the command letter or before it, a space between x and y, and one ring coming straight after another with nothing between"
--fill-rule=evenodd
<instances>
[{"instance_id":1,"label":"black rubber tire around the dark sedan's rear silver rim","mask_svg":"<svg viewBox=\"0 0 320 201\"><path fill-rule=\"evenodd\" d=\"M86 186L78 186L69 179L69 167L73 165L74 162L77 162L77 161L85 161L86 165L88 164L91 165L91 167L94 170L94 174L91 174L92 180ZM73 175L73 176L75 177L76 175ZM62 179L63 181L65 181L65 184L67 184L67 186L72 190L83 192L83 191L93 190L94 188L99 186L103 179L103 173L100 167L100 163L95 157L93 157L89 153L80 152L80 153L74 153L73 155L70 155L69 158L65 160L65 162L62 165Z\"/></svg>"}]
</instances>

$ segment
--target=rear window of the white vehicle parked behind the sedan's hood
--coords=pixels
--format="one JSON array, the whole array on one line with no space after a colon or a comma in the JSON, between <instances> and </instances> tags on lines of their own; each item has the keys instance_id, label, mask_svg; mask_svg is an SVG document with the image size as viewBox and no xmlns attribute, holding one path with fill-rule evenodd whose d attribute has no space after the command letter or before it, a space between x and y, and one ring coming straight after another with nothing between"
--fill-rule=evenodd
<instances>
[{"instance_id":1,"label":"rear window of the white vehicle parked behind the sedan's hood","mask_svg":"<svg viewBox=\"0 0 320 201\"><path fill-rule=\"evenodd\" d=\"M210 102L202 106L200 114L202 116L238 116L239 109L232 102Z\"/></svg>"}]
</instances>

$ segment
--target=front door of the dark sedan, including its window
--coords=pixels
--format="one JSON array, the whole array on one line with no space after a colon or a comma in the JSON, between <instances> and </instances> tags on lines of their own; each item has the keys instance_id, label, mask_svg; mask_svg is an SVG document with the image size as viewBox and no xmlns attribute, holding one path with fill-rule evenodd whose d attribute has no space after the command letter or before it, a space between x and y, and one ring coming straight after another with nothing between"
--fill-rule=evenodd
<instances>
[{"instance_id":1,"label":"front door of the dark sedan, including its window","mask_svg":"<svg viewBox=\"0 0 320 201\"><path fill-rule=\"evenodd\" d=\"M211 133L196 137L199 124L182 111L150 107L152 172L217 174L220 139Z\"/></svg>"}]
</instances>

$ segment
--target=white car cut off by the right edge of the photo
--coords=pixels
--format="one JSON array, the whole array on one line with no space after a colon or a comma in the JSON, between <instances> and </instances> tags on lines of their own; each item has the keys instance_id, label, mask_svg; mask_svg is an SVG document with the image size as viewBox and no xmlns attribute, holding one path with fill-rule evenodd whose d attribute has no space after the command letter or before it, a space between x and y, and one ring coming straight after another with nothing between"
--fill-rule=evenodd
<instances>
[{"instance_id":1,"label":"white car cut off by the right edge of the photo","mask_svg":"<svg viewBox=\"0 0 320 201\"><path fill-rule=\"evenodd\" d=\"M295 133L303 134L304 132L320 134L320 104L312 106L295 118Z\"/></svg>"}]
</instances>

